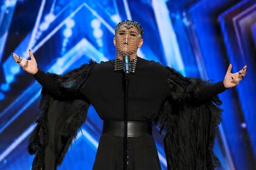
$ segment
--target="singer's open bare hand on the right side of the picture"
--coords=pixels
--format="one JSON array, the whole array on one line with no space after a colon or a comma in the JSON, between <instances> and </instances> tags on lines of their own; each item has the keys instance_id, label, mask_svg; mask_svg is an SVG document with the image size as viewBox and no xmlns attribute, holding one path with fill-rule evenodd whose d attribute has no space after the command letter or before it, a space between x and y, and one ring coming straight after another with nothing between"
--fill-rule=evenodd
<instances>
[{"instance_id":1,"label":"singer's open bare hand on the right side of the picture","mask_svg":"<svg viewBox=\"0 0 256 170\"><path fill-rule=\"evenodd\" d=\"M239 72L231 73L232 64L229 64L226 76L224 78L223 84L226 88L235 87L246 75L247 66L244 66Z\"/></svg>"}]
</instances>

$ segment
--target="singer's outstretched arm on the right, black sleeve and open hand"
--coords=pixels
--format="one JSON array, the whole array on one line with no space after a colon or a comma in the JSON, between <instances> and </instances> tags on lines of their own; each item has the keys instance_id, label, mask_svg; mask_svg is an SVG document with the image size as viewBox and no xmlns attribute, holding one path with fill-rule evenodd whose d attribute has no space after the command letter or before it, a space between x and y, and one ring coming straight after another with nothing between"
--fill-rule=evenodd
<instances>
[{"instance_id":1,"label":"singer's outstretched arm on the right, black sleeve and open hand","mask_svg":"<svg viewBox=\"0 0 256 170\"><path fill-rule=\"evenodd\" d=\"M183 77L183 75L170 67L167 67L167 69L168 84L174 100L202 103L211 100L228 88L235 87L246 76L247 66L244 66L239 72L231 73L232 65L230 64L224 80L214 84L209 84L200 78Z\"/></svg>"}]
</instances>

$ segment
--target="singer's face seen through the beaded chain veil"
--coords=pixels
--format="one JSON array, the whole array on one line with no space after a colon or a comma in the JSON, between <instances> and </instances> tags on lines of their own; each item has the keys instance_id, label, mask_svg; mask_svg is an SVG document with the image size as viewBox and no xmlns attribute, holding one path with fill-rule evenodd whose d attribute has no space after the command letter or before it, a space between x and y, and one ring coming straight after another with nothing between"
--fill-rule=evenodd
<instances>
[{"instance_id":1,"label":"singer's face seen through the beaded chain veil","mask_svg":"<svg viewBox=\"0 0 256 170\"><path fill-rule=\"evenodd\" d=\"M132 25L120 25L116 31L114 44L119 55L132 55L142 46L143 39Z\"/></svg>"}]
</instances>

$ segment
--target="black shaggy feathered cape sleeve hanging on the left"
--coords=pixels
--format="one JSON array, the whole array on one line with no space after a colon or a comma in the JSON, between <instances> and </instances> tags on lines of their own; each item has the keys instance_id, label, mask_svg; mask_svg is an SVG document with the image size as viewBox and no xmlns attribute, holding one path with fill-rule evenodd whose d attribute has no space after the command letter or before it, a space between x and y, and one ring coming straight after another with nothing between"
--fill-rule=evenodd
<instances>
[{"instance_id":1,"label":"black shaggy feathered cape sleeve hanging on the left","mask_svg":"<svg viewBox=\"0 0 256 170\"><path fill-rule=\"evenodd\" d=\"M94 64L90 61L90 64L62 76L39 70L38 75L51 81L38 80L43 86L39 106L41 115L27 146L29 154L35 154L32 169L44 169L44 157L48 156L54 159L54 168L62 163L87 116L90 103L80 95L79 88L87 81Z\"/></svg>"}]
</instances>

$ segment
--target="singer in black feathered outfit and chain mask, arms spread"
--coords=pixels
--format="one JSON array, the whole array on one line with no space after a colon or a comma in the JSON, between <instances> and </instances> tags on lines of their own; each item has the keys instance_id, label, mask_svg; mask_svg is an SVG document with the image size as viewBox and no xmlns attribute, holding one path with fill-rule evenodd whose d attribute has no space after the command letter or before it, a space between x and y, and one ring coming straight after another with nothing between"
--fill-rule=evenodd
<instances>
[{"instance_id":1,"label":"singer in black feathered outfit and chain mask, arms spread","mask_svg":"<svg viewBox=\"0 0 256 170\"><path fill-rule=\"evenodd\" d=\"M65 75L38 69L34 55L25 60L13 53L23 69L43 86L41 116L30 135L28 151L35 154L32 169L56 169L65 157L90 104L104 120L93 169L123 169L124 72L123 55L130 56L127 169L161 169L151 123L164 137L168 169L214 169L215 132L222 112L216 96L236 86L246 75L227 69L224 81L210 84L186 78L171 67L137 56L143 44L138 22L116 25L115 60L90 61ZM74 155L76 156L76 155Z\"/></svg>"}]
</instances>

